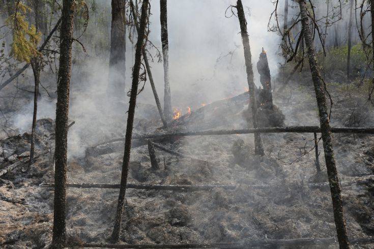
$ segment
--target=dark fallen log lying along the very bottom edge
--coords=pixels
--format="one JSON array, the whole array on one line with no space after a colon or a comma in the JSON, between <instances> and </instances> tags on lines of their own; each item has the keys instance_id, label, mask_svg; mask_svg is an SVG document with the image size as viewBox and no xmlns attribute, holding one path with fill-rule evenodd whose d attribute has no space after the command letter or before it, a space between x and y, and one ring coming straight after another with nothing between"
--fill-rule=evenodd
<instances>
[{"instance_id":1,"label":"dark fallen log lying along the very bottom edge","mask_svg":"<svg viewBox=\"0 0 374 249\"><path fill-rule=\"evenodd\" d=\"M305 246L305 245L330 245L336 244L336 238L299 238L299 239L265 239L245 242L220 242L220 243L188 243L188 244L77 244L81 247L100 248L250 248L264 246ZM351 244L372 244L374 237L351 238Z\"/></svg>"}]
</instances>

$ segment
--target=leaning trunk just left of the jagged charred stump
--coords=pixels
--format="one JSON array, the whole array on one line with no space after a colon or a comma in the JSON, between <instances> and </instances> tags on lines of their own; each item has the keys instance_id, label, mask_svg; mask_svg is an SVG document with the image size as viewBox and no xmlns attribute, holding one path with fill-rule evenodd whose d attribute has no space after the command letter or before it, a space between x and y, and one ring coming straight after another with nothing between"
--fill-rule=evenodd
<instances>
[{"instance_id":1,"label":"leaning trunk just left of the jagged charred stump","mask_svg":"<svg viewBox=\"0 0 374 249\"><path fill-rule=\"evenodd\" d=\"M256 86L254 85L253 79L253 68L252 68L252 55L249 46L249 38L247 33L247 21L245 20L244 16L244 9L241 0L237 2L237 10L238 10L238 18L240 23L240 30L242 34L242 41L244 47L244 59L245 59L245 67L247 71L247 81L249 87L249 99L250 99L250 106L252 108L252 122L253 128L257 128L257 105L256 105L256 94L255 89ZM254 152L255 154L264 155L264 149L261 142L260 133L254 134Z\"/></svg>"}]
</instances>

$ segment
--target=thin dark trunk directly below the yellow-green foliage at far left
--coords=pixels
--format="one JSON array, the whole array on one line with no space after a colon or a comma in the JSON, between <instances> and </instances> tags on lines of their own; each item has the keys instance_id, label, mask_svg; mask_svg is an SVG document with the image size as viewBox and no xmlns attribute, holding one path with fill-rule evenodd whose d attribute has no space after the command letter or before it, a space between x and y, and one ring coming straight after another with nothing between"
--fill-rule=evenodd
<instances>
[{"instance_id":1,"label":"thin dark trunk directly below the yellow-green foliage at far left","mask_svg":"<svg viewBox=\"0 0 374 249\"><path fill-rule=\"evenodd\" d=\"M40 84L40 59L38 57L33 58L31 61L31 67L34 74L34 112L33 112L33 126L31 128L31 148L30 148L30 163L34 159L35 152L35 128L36 119L38 113L38 95L39 95L39 84Z\"/></svg>"}]
</instances>

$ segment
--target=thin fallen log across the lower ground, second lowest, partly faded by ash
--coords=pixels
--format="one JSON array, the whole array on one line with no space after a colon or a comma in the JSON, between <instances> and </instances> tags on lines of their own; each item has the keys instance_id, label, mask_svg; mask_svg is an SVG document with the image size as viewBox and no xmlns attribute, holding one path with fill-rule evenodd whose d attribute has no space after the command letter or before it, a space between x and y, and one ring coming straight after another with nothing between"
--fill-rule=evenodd
<instances>
[{"instance_id":1,"label":"thin fallen log across the lower ground, second lowest, partly faded by ash","mask_svg":"<svg viewBox=\"0 0 374 249\"><path fill-rule=\"evenodd\" d=\"M374 181L374 175L369 175L361 178L356 178L350 181L342 181L340 185L350 186L352 184L363 185ZM319 183L308 183L310 188L326 188L329 186L328 182ZM51 188L54 186L53 182L46 182L39 184L42 188ZM68 188L79 188L79 189L119 189L120 184L110 183L66 183ZM252 189L270 189L272 186L269 184L257 184L257 185L159 185L159 184L133 184L128 183L127 189L138 189L138 190L172 190L172 191L209 191L214 188L221 188L226 190L234 190L245 186L246 188Z\"/></svg>"}]
</instances>

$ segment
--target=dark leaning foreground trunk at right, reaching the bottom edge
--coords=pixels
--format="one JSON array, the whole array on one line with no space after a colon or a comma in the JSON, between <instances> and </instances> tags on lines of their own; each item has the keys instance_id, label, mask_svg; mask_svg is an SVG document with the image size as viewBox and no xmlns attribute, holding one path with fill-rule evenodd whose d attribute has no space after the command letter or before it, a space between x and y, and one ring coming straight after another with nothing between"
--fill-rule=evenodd
<instances>
[{"instance_id":1,"label":"dark leaning foreground trunk at right, reaching the bottom edge","mask_svg":"<svg viewBox=\"0 0 374 249\"><path fill-rule=\"evenodd\" d=\"M337 237L340 248L349 248L349 241L347 237L346 222L343 216L343 207L340 194L340 185L338 179L338 173L336 170L334 151L332 148L331 141L331 128L329 123L329 112L327 110L325 88L322 82L322 78L319 72L319 66L317 59L315 58L315 50L313 41L311 38L311 31L309 27L309 19L307 16L307 7L305 0L299 0L301 23L304 33L304 40L308 52L309 67L312 75L314 84L315 97L317 98L317 104L320 114L320 125L322 133L322 141L325 152L325 161L327 174L329 177L332 206L334 209L334 220L336 226Z\"/></svg>"}]
</instances>

